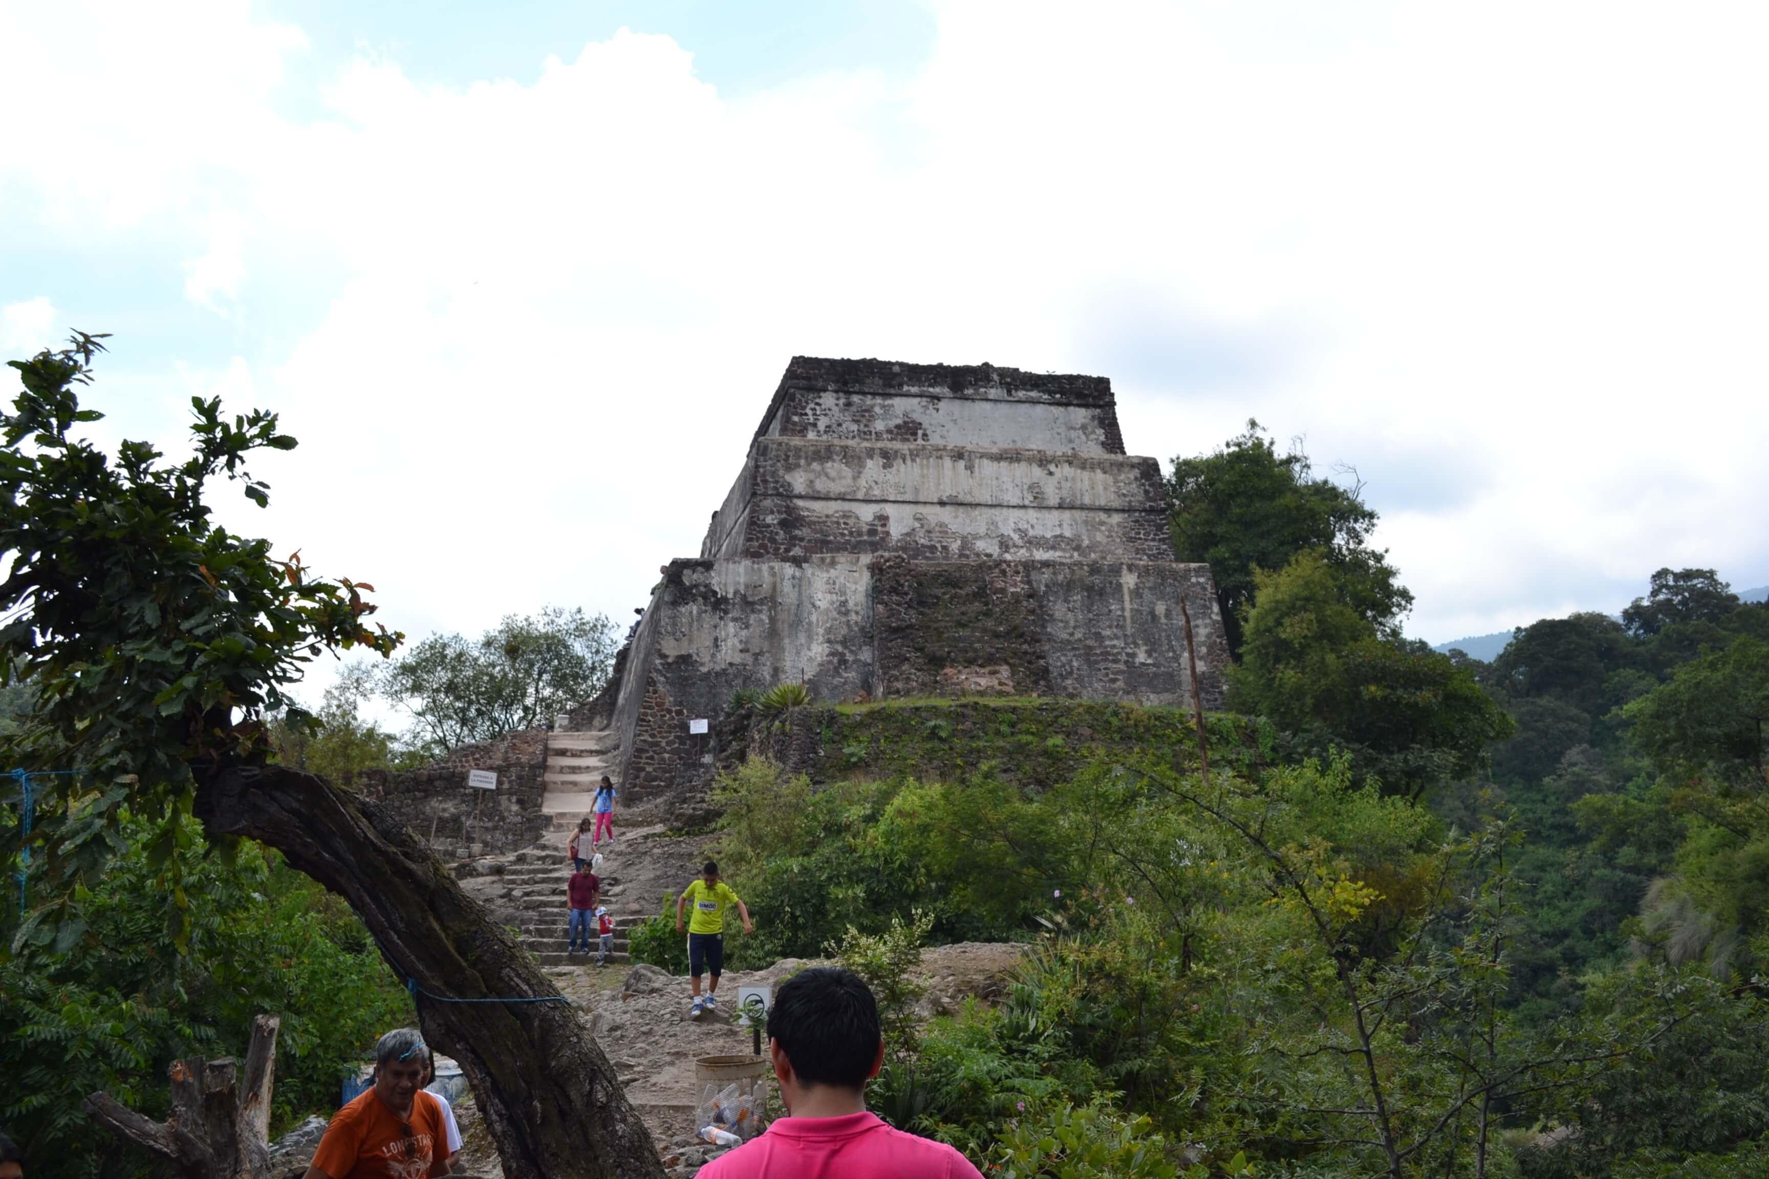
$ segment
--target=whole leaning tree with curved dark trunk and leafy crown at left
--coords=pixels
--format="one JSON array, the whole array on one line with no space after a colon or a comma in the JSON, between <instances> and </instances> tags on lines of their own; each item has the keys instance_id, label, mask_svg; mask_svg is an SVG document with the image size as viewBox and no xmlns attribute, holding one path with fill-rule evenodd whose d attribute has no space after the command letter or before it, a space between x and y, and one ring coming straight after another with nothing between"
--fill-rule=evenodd
<instances>
[{"instance_id":1,"label":"whole leaning tree with curved dark trunk and leafy crown at left","mask_svg":"<svg viewBox=\"0 0 1769 1179\"><path fill-rule=\"evenodd\" d=\"M78 396L99 350L76 336L14 361L21 389L0 414L0 679L37 693L0 749L44 774L30 804L0 815L0 863L18 870L30 854L37 903L7 953L41 960L92 933L81 891L127 848L126 818L152 825L147 863L166 871L170 940L188 949L188 880L203 859L193 817L223 863L241 838L260 840L350 903L410 981L426 1039L462 1061L502 1126L511 1179L662 1175L607 1057L508 932L384 808L272 760L271 718L310 721L288 696L308 659L398 643L366 624L368 587L310 578L269 541L214 523L209 483L239 479L264 504L244 461L294 438L274 414L226 421L196 398L189 460L163 465L145 442L113 460L74 437L101 417Z\"/></svg>"}]
</instances>

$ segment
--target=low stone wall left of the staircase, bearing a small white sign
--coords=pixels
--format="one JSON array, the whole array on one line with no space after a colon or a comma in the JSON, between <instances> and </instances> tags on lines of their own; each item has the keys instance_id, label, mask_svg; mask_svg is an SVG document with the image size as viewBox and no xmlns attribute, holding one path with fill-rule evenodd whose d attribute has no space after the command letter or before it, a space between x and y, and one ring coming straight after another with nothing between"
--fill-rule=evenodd
<instances>
[{"instance_id":1,"label":"low stone wall left of the staircase, bearing a small white sign","mask_svg":"<svg viewBox=\"0 0 1769 1179\"><path fill-rule=\"evenodd\" d=\"M467 785L467 771L497 774L497 790ZM548 827L541 813L547 787L547 734L522 730L488 744L451 749L430 765L371 771L357 787L379 797L439 856L499 856L529 847Z\"/></svg>"}]
</instances>

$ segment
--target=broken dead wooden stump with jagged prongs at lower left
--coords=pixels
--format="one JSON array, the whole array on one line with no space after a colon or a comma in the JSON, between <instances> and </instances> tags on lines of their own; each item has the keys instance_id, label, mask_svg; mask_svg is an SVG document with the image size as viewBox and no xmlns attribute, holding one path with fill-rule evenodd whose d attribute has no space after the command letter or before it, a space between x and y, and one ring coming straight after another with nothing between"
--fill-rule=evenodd
<instances>
[{"instance_id":1,"label":"broken dead wooden stump with jagged prongs at lower left","mask_svg":"<svg viewBox=\"0 0 1769 1179\"><path fill-rule=\"evenodd\" d=\"M166 1160L184 1179L271 1179L271 1085L280 1022L274 1015L253 1020L242 1076L234 1057L173 1061L172 1114L165 1122L104 1092L87 1098L87 1115Z\"/></svg>"}]
</instances>

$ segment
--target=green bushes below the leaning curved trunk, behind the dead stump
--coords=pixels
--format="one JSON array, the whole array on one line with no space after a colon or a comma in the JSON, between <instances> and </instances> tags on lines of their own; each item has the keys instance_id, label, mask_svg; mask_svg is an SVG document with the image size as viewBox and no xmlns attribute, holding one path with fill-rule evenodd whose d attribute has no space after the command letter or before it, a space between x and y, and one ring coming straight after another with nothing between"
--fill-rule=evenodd
<instances>
[{"instance_id":1,"label":"green bushes below the leaning curved trunk, behind the dead stump","mask_svg":"<svg viewBox=\"0 0 1769 1179\"><path fill-rule=\"evenodd\" d=\"M191 845L177 893L156 863L159 827L126 818L124 854L71 900L62 928L83 933L0 962L0 1122L34 1175L133 1170L94 1131L83 1098L104 1091L163 1115L166 1066L237 1055L260 1013L281 1015L274 1131L329 1115L364 1048L414 1020L410 997L338 898L255 843L230 866L202 854L193 820L177 831ZM182 955L166 937L173 923L189 928Z\"/></svg>"}]
</instances>

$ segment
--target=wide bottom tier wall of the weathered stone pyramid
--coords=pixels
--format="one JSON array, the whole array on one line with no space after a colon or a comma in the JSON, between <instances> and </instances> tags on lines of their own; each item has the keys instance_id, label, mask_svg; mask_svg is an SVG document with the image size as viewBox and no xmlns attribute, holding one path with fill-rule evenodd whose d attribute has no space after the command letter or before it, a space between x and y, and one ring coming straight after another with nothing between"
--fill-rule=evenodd
<instances>
[{"instance_id":1,"label":"wide bottom tier wall of the weathered stone pyramid","mask_svg":"<svg viewBox=\"0 0 1769 1179\"><path fill-rule=\"evenodd\" d=\"M1226 649L1208 566L678 560L630 654L651 670L642 693L623 689L623 788L642 801L702 783L732 693L801 677L817 700L1017 695L1189 707L1182 601L1203 704L1219 709ZM709 721L706 735L688 734L695 718Z\"/></svg>"}]
</instances>

